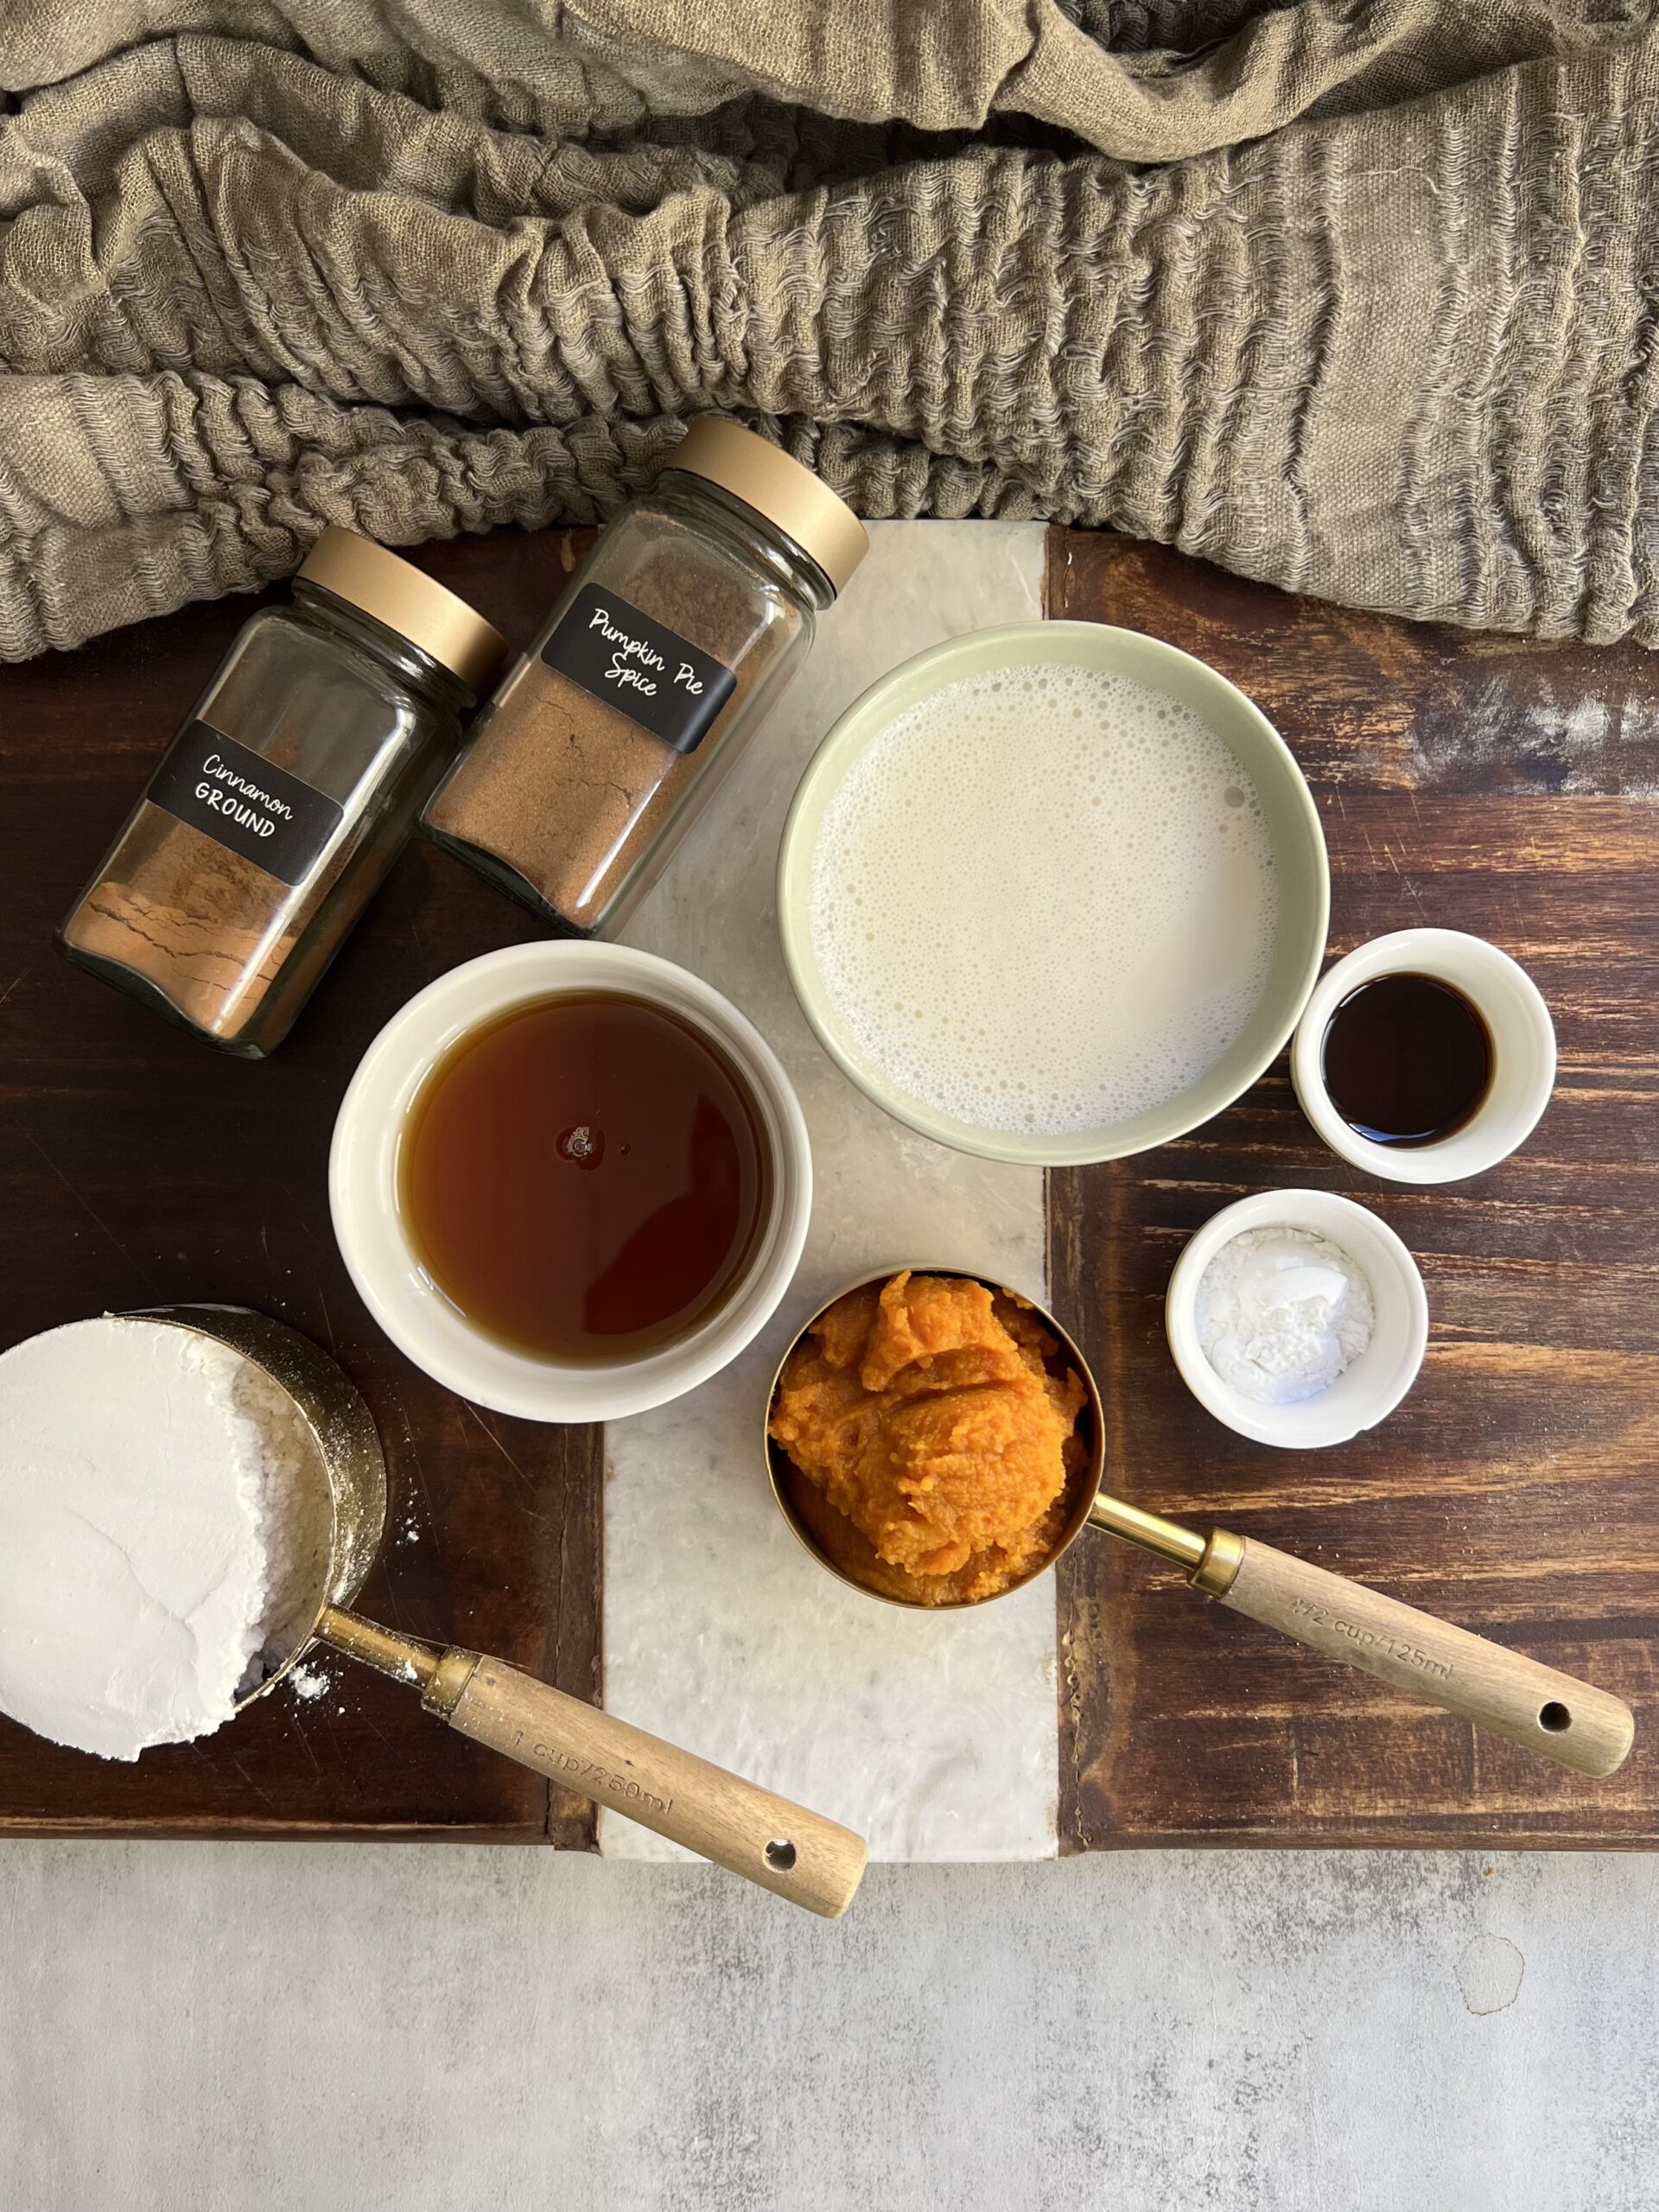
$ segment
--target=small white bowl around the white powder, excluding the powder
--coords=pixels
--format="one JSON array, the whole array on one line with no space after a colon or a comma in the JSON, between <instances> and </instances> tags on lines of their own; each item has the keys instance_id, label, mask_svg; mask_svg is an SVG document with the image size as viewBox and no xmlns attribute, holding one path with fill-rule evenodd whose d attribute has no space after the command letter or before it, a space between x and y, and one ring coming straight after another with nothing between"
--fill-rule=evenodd
<instances>
[{"instance_id":1,"label":"small white bowl around the white powder, excluding the powder","mask_svg":"<svg viewBox=\"0 0 1659 2212\"><path fill-rule=\"evenodd\" d=\"M1371 1343L1318 1398L1259 1405L1221 1380L1199 1343L1199 1281L1217 1252L1243 1230L1310 1230L1327 1237L1371 1285ZM1321 1451L1374 1429L1411 1389L1429 1343L1429 1296L1418 1263L1387 1221L1378 1221L1365 1206L1338 1199L1332 1190L1261 1190L1254 1199L1223 1206L1181 1252L1164 1296L1164 1329L1181 1380L1208 1413L1259 1444Z\"/></svg>"}]
</instances>

